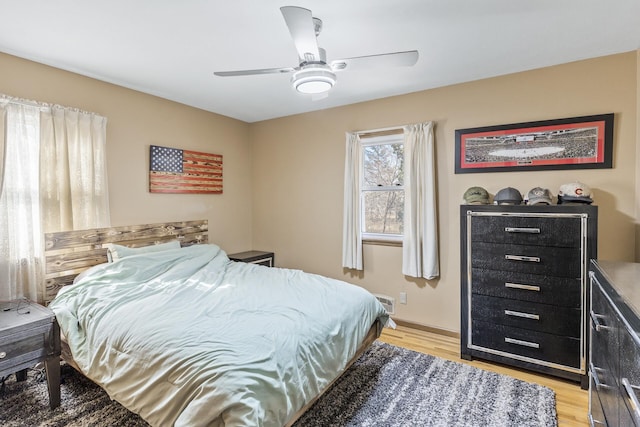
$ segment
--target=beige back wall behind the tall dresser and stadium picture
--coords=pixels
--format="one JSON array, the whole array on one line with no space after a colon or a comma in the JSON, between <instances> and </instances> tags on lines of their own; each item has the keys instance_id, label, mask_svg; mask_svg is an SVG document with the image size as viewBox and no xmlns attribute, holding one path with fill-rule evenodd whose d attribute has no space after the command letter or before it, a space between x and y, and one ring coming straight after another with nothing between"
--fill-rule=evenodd
<instances>
[{"instance_id":1,"label":"beige back wall behind the tall dresser and stadium picture","mask_svg":"<svg viewBox=\"0 0 640 427\"><path fill-rule=\"evenodd\" d=\"M253 242L276 252L276 264L346 279L396 299L396 318L459 330L459 205L480 185L495 194L536 186L556 194L579 180L600 206L599 256L635 259L636 52L575 62L302 114L251 125ZM329 95L331 96L331 95ZM615 113L614 168L600 170L454 174L455 129ZM365 270L341 267L345 132L436 122L441 277L401 273L401 248L366 246Z\"/></svg>"}]
</instances>

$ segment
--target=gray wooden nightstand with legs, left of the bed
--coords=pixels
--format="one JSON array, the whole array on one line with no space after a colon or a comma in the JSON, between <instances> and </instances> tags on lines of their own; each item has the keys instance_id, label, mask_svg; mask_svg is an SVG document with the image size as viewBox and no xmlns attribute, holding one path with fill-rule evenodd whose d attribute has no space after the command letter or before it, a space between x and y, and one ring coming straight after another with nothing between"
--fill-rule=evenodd
<instances>
[{"instance_id":1,"label":"gray wooden nightstand with legs, left of the bed","mask_svg":"<svg viewBox=\"0 0 640 427\"><path fill-rule=\"evenodd\" d=\"M0 303L0 377L26 379L44 362L51 409L60 406L60 328L53 311L27 300Z\"/></svg>"}]
</instances>

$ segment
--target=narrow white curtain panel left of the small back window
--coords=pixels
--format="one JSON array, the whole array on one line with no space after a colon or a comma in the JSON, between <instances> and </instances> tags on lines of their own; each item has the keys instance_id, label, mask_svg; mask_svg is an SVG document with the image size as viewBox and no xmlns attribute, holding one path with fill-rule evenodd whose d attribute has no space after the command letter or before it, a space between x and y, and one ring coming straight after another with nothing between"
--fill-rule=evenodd
<instances>
[{"instance_id":1,"label":"narrow white curtain panel left of the small back window","mask_svg":"<svg viewBox=\"0 0 640 427\"><path fill-rule=\"evenodd\" d=\"M342 266L362 270L362 235L360 220L360 174L362 148L356 133L347 133L344 167L344 218L342 230Z\"/></svg>"}]
</instances>

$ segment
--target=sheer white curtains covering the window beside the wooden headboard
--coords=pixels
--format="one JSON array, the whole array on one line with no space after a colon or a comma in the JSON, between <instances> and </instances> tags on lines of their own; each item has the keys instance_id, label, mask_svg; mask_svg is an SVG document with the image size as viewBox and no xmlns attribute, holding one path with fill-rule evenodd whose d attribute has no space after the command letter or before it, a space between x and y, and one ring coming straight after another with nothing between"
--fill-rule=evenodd
<instances>
[{"instance_id":1,"label":"sheer white curtains covering the window beside the wooden headboard","mask_svg":"<svg viewBox=\"0 0 640 427\"><path fill-rule=\"evenodd\" d=\"M108 226L106 119L0 96L0 300L43 295L43 233Z\"/></svg>"}]
</instances>

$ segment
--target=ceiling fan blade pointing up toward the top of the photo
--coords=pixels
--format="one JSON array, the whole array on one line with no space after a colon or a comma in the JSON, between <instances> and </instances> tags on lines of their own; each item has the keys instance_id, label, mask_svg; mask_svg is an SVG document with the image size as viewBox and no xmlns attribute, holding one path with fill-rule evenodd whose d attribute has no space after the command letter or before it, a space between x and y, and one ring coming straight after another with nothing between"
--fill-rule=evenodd
<instances>
[{"instance_id":1,"label":"ceiling fan blade pointing up toward the top of the photo","mask_svg":"<svg viewBox=\"0 0 640 427\"><path fill-rule=\"evenodd\" d=\"M320 52L311 11L297 6L283 6L280 11L289 27L300 59L306 62L319 61Z\"/></svg>"}]
</instances>

